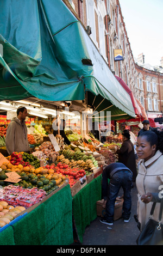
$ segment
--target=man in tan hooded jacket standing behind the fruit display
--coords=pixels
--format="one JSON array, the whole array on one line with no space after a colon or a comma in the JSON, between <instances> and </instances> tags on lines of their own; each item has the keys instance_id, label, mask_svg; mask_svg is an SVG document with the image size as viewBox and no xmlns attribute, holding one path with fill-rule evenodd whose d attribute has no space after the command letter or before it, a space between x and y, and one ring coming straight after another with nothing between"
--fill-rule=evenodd
<instances>
[{"instance_id":1,"label":"man in tan hooded jacket standing behind the fruit display","mask_svg":"<svg viewBox=\"0 0 163 256\"><path fill-rule=\"evenodd\" d=\"M30 147L27 137L27 126L25 119L28 115L26 107L17 109L17 117L12 118L8 125L5 137L5 147L9 155L13 152L30 153Z\"/></svg>"}]
</instances>

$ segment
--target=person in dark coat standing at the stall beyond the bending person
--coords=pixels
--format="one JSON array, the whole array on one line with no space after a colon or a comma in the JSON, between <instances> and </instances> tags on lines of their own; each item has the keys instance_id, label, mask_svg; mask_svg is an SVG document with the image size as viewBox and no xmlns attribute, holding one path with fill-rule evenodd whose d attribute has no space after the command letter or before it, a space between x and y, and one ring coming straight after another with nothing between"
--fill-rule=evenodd
<instances>
[{"instance_id":1,"label":"person in dark coat standing at the stall beyond the bending person","mask_svg":"<svg viewBox=\"0 0 163 256\"><path fill-rule=\"evenodd\" d=\"M128 130L122 132L122 145L121 148L116 151L118 154L118 162L123 163L133 173L133 181L136 180L137 169L134 145L130 141L130 133Z\"/></svg>"}]
</instances>

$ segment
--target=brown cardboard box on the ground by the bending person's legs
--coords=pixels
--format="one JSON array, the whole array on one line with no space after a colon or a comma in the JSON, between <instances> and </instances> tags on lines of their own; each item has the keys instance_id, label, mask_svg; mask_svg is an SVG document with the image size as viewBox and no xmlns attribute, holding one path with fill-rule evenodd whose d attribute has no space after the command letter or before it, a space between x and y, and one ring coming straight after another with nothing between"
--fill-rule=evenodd
<instances>
[{"instance_id":1,"label":"brown cardboard box on the ground by the bending person's legs","mask_svg":"<svg viewBox=\"0 0 163 256\"><path fill-rule=\"evenodd\" d=\"M104 202L104 199L96 202L97 216L100 216L100 217L103 217L105 215L105 209L103 209L102 207L103 202ZM115 202L115 208L114 208L114 218L113 218L114 221L122 217L122 205L123 205L123 198L117 197Z\"/></svg>"}]
</instances>

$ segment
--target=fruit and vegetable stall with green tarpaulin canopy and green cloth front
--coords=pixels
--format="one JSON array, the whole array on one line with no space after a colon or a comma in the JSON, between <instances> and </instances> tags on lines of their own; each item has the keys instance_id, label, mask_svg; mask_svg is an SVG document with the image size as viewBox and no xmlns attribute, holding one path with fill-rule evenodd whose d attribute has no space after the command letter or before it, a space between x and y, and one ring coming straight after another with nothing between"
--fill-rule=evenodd
<instances>
[{"instance_id":1,"label":"fruit and vegetable stall with green tarpaulin canopy and green cloth front","mask_svg":"<svg viewBox=\"0 0 163 256\"><path fill-rule=\"evenodd\" d=\"M8 16L10 0L5 3L1 8L4 17ZM28 19L29 4L33 5L32 19ZM60 13L64 15L61 17ZM5 56L0 56L0 105L2 111L12 113L10 117L18 106L25 106L29 118L34 120L26 123L30 154L13 152L1 162L0 204L8 204L3 203L0 210L1 243L66 245L72 243L72 215L81 241L86 225L97 216L100 175L106 164L116 161L115 149L120 147L111 148L112 143L103 145L87 128L83 129L87 126L88 111L92 121L99 120L102 112L102 118L110 120L135 117L135 112L128 93L62 1L54 4L42 0L40 4L30 0L28 5L12 1L10 15L17 14L27 19L23 19L22 26L17 22L10 24L10 35L16 33L10 38L5 19L0 19L0 43ZM26 102L22 102L24 99ZM52 120L63 117L59 112L63 114L67 106L68 112L78 111L78 115L71 114L80 119L76 126L80 133L78 129L69 129L70 123L68 132L65 130L70 146L60 135L53 136L52 127ZM70 117L66 121L70 122ZM8 124L4 125L5 129ZM5 134L2 135L5 147ZM1 150L4 155L5 148ZM39 202L38 198L34 200L34 194Z\"/></svg>"}]
</instances>

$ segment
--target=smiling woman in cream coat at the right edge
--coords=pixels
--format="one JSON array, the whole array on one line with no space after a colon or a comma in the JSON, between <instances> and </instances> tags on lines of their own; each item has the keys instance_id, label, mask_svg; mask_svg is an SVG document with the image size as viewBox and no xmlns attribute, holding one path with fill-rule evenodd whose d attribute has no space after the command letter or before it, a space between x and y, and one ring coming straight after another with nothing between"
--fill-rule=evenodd
<instances>
[{"instance_id":1,"label":"smiling woman in cream coat at the right edge","mask_svg":"<svg viewBox=\"0 0 163 256\"><path fill-rule=\"evenodd\" d=\"M139 162L139 173L136 177L138 191L137 218L140 230L148 222L152 202L145 204L142 195L159 193L163 184L163 132L145 131L140 134L136 142ZM151 200L152 201L152 200ZM153 219L158 221L160 205L156 203Z\"/></svg>"}]
</instances>

